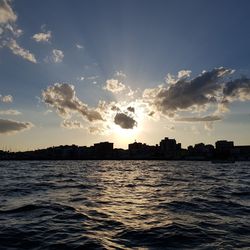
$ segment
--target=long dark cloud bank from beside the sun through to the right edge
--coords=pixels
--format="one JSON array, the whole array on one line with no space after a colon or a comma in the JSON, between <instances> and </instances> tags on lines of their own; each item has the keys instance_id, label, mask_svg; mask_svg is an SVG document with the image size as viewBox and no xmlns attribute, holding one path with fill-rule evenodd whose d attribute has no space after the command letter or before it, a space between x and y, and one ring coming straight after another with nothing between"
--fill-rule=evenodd
<instances>
[{"instance_id":1,"label":"long dark cloud bank from beside the sun through to the right edge","mask_svg":"<svg viewBox=\"0 0 250 250\"><path fill-rule=\"evenodd\" d=\"M180 71L174 80L169 76L167 84L146 89L143 98L155 113L168 117L179 111L202 112L211 107L220 114L228 111L233 101L250 100L250 79L228 81L233 73L234 70L220 67L189 79L190 71Z\"/></svg>"}]
</instances>

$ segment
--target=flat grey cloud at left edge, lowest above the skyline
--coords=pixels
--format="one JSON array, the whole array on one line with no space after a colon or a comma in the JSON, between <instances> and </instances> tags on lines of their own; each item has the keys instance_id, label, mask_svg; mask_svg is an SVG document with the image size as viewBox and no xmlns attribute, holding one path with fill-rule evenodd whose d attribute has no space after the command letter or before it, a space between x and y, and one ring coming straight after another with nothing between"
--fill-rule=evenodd
<instances>
[{"instance_id":1,"label":"flat grey cloud at left edge, lowest above the skyline","mask_svg":"<svg viewBox=\"0 0 250 250\"><path fill-rule=\"evenodd\" d=\"M30 122L19 122L0 118L0 134L13 134L30 129L33 126L34 125Z\"/></svg>"}]
</instances>

